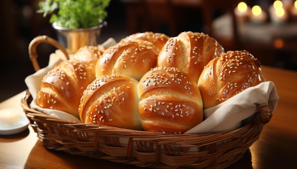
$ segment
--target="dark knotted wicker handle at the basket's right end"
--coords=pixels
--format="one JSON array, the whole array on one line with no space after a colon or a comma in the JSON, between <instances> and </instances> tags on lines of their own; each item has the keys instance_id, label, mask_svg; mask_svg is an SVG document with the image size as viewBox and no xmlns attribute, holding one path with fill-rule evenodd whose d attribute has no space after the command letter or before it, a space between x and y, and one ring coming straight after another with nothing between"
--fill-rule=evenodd
<instances>
[{"instance_id":1,"label":"dark knotted wicker handle at the basket's right end","mask_svg":"<svg viewBox=\"0 0 297 169\"><path fill-rule=\"evenodd\" d=\"M260 104L257 106L259 112L254 118L254 122L260 122L266 124L272 118L272 112L269 110L268 104Z\"/></svg>"}]
</instances>

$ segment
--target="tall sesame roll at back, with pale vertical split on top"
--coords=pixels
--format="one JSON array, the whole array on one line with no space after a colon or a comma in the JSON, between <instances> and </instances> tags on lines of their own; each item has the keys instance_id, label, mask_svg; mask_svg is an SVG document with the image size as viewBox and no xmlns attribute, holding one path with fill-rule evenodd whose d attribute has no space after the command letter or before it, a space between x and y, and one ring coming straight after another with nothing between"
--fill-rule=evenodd
<instances>
[{"instance_id":1,"label":"tall sesame roll at back, with pale vertical split on top","mask_svg":"<svg viewBox=\"0 0 297 169\"><path fill-rule=\"evenodd\" d=\"M157 66L176 67L198 82L204 66L224 48L204 33L183 32L170 38L159 53Z\"/></svg>"}]
</instances>

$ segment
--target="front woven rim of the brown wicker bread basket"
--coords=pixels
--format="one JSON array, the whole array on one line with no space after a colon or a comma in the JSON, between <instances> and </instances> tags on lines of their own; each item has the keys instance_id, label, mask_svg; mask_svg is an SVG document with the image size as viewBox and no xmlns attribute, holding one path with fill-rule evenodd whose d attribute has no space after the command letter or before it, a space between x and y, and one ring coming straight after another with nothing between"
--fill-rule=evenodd
<instances>
[{"instance_id":1,"label":"front woven rim of the brown wicker bread basket","mask_svg":"<svg viewBox=\"0 0 297 169\"><path fill-rule=\"evenodd\" d=\"M23 107L23 109L30 111L29 113L26 113L27 116L30 116L30 115L33 115L33 114L39 114L40 117L46 118L47 120L50 120L50 121L57 121L59 123L65 123L64 125L73 126L73 127L79 125L80 127L83 127L83 126L86 127L86 130L79 130L79 131L75 130L76 132L93 132L93 131L87 131L87 130L90 130L91 127L94 127L94 130L96 128L106 128L108 130L113 130L114 129L117 132L124 131L123 133L150 134L150 135L154 135L154 137L155 136L186 136L186 137L194 136L195 137L195 136L221 135L221 134L226 134L226 133L229 133L229 132L233 133L233 132L242 130L244 128L247 128L247 127L252 126L252 125L255 124L253 122L253 120L251 120L246 125L235 128L235 129L230 129L230 130L226 130L226 131L222 131L222 132L218 132L218 133L202 133L202 134L170 134L170 133L158 133L158 132L150 132L150 131L138 131L138 130L130 130L130 129L118 128L118 127L107 126L107 125L84 124L84 123L72 122L72 121L69 121L69 120L63 120L63 119L60 119L60 118L56 118L56 117L53 117L51 115L45 114L43 112L40 112L38 110L35 110L35 109L31 108L30 105L27 104L28 99L29 99L30 96L31 96L31 93L29 92L29 89L26 89L23 92L22 99L21 99L21 106ZM32 112L34 112L34 113L32 114ZM36 116L36 115L34 115L34 116Z\"/></svg>"}]
</instances>

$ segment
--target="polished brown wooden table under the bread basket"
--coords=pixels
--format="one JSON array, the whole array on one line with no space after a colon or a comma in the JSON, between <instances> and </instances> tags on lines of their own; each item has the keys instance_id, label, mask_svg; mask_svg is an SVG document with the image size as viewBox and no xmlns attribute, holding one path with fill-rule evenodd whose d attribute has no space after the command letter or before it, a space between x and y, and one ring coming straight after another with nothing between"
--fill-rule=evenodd
<instances>
[{"instance_id":1,"label":"polished brown wooden table under the bread basket","mask_svg":"<svg viewBox=\"0 0 297 169\"><path fill-rule=\"evenodd\" d=\"M229 168L297 168L297 72L263 66L263 74L277 87L280 97L277 109L260 139ZM0 109L21 110L21 95L0 103ZM0 136L0 168L140 167L48 150L29 127L17 135Z\"/></svg>"}]
</instances>

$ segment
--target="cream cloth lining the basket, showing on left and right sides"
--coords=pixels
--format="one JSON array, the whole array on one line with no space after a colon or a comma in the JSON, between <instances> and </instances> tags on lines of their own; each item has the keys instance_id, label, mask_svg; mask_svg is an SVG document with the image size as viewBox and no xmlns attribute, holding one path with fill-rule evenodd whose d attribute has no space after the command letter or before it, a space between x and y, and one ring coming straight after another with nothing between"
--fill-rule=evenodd
<instances>
[{"instance_id":1,"label":"cream cloth lining the basket, showing on left and right sides","mask_svg":"<svg viewBox=\"0 0 297 169\"><path fill-rule=\"evenodd\" d=\"M105 47L110 47L115 43L116 41L113 38L110 38L103 45ZM61 51L57 51L56 54L51 54L49 65L47 67L37 71L33 75L29 75L25 79L25 83L33 97L30 106L48 115L81 123L80 120L73 115L59 110L44 109L38 107L36 103L36 97L40 90L42 78L49 70L53 69L56 64L61 62L62 58L65 58L65 56ZM247 119L257 112L257 105L267 103L270 110L273 111L277 106L278 100L279 97L274 83L269 81L260 83L257 86L245 89L241 93L219 105L204 110L203 114L205 120L187 131L185 134L217 133L238 128L241 125L242 120ZM127 144L126 141L124 142Z\"/></svg>"}]
</instances>

